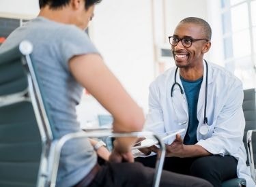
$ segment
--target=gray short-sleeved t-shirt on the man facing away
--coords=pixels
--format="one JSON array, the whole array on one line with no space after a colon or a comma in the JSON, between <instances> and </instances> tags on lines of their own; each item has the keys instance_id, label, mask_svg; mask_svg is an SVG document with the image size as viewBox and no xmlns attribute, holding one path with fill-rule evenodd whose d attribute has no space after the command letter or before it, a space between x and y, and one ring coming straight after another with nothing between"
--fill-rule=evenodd
<instances>
[{"instance_id":1,"label":"gray short-sleeved t-shirt on the man facing away","mask_svg":"<svg viewBox=\"0 0 256 187\"><path fill-rule=\"evenodd\" d=\"M0 51L12 48L23 39L33 44L31 58L55 137L81 131L75 107L83 88L70 73L68 61L80 54L98 54L98 50L88 35L74 25L38 17L16 29L1 45ZM57 186L73 186L89 173L96 161L96 153L88 139L69 141L61 152Z\"/></svg>"}]
</instances>

